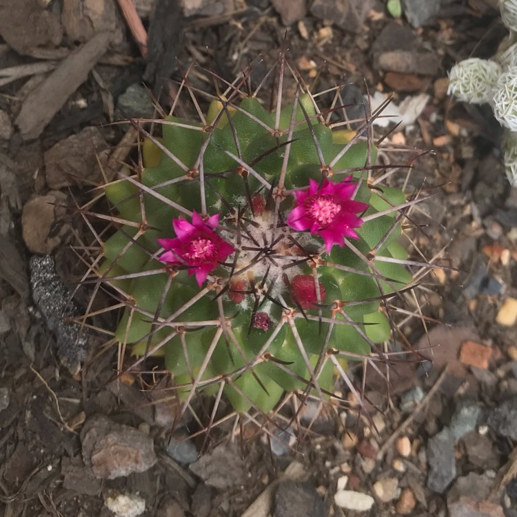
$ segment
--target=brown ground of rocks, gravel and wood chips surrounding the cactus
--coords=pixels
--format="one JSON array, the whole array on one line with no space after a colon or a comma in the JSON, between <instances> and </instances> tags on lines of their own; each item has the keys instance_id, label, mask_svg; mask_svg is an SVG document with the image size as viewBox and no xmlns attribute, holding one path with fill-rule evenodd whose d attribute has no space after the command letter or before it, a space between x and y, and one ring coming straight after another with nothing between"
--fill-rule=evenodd
<instances>
[{"instance_id":1,"label":"brown ground of rocks, gravel and wood chips surrounding the cactus","mask_svg":"<svg viewBox=\"0 0 517 517\"><path fill-rule=\"evenodd\" d=\"M505 37L496 2L402 1L401 17L381 0L135 0L136 17L128 4L0 6L3 516L516 516L517 189L489 108L447 96L447 70ZM358 116L365 94L393 93L376 134L402 123L381 158L421 154L409 184L438 192L419 245L449 268L425 286L427 323L403 327L429 361L392 366L389 390L367 376L371 420L326 412L308 426L310 406L278 440L214 435L199 457L194 426L169 433L173 401L140 376L115 379L116 350L63 323L85 303L70 302L70 245L85 235L73 207L99 163L132 159L134 130L110 122L154 116L153 98L170 107L193 59L232 78L261 54L263 77L285 41L307 81L344 78Z\"/></svg>"}]
</instances>

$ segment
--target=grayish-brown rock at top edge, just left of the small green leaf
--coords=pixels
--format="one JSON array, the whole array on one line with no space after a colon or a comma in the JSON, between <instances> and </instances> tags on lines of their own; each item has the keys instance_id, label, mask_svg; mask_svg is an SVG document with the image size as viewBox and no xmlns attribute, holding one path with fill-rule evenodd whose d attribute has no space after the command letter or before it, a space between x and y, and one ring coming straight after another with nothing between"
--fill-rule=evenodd
<instances>
[{"instance_id":1,"label":"grayish-brown rock at top edge, just left of the small green leaf","mask_svg":"<svg viewBox=\"0 0 517 517\"><path fill-rule=\"evenodd\" d=\"M349 32L361 32L374 0L314 0L311 13Z\"/></svg>"}]
</instances>

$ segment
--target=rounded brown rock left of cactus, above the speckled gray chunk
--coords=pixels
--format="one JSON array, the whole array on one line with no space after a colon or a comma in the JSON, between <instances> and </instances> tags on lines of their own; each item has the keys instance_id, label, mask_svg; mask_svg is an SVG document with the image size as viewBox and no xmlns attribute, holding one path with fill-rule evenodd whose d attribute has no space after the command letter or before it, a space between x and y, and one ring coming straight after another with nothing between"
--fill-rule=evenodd
<instances>
[{"instance_id":1,"label":"rounded brown rock left of cactus, above the speckled gray chunk","mask_svg":"<svg viewBox=\"0 0 517 517\"><path fill-rule=\"evenodd\" d=\"M55 191L37 196L23 206L21 230L30 252L48 255L61 244L68 226L58 223L63 219L66 203L67 196Z\"/></svg>"}]
</instances>

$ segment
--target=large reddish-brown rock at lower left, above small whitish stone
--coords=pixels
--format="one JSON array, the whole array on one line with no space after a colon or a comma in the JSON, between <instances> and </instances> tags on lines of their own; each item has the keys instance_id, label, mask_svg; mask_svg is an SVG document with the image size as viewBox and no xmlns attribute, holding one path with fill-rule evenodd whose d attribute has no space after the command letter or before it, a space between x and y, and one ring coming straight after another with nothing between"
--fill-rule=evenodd
<instances>
[{"instance_id":1,"label":"large reddish-brown rock at lower left, above small whitish stone","mask_svg":"<svg viewBox=\"0 0 517 517\"><path fill-rule=\"evenodd\" d=\"M145 472L156 463L149 436L128 425L93 416L81 431L83 461L98 478L114 479L132 472Z\"/></svg>"}]
</instances>

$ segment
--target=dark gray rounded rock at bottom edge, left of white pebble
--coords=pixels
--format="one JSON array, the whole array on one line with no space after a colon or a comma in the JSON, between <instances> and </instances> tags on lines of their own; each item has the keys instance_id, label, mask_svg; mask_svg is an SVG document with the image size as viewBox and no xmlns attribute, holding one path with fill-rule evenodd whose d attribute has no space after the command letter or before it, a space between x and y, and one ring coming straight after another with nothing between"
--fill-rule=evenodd
<instances>
[{"instance_id":1,"label":"dark gray rounded rock at bottom edge, left of white pebble","mask_svg":"<svg viewBox=\"0 0 517 517\"><path fill-rule=\"evenodd\" d=\"M325 505L311 483L285 481L278 485L273 517L325 517Z\"/></svg>"}]
</instances>

